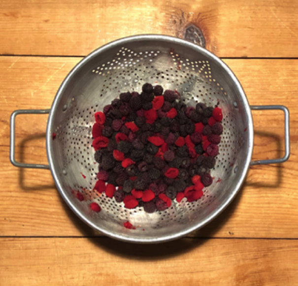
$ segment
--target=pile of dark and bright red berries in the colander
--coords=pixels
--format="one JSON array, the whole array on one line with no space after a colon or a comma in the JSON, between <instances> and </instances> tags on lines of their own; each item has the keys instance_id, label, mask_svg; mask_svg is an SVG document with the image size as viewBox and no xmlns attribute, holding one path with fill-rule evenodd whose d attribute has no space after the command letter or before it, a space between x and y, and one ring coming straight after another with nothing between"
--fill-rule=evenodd
<instances>
[{"instance_id":1,"label":"pile of dark and bright red berries in the colander","mask_svg":"<svg viewBox=\"0 0 298 286\"><path fill-rule=\"evenodd\" d=\"M172 200L188 202L212 183L222 110L186 107L180 94L150 83L142 93L121 93L95 113L93 147L99 163L95 189L133 209L164 211Z\"/></svg>"}]
</instances>

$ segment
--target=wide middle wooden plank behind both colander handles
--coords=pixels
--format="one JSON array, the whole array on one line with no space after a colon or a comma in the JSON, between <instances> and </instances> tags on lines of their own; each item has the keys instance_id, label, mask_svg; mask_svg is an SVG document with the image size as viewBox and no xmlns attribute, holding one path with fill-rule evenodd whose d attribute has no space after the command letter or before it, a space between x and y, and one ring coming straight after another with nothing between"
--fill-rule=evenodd
<instances>
[{"instance_id":1,"label":"wide middle wooden plank behind both colander handles","mask_svg":"<svg viewBox=\"0 0 298 286\"><path fill-rule=\"evenodd\" d=\"M82 236L95 233L60 198L49 171L13 167L9 154L9 116L19 108L49 108L75 58L0 58L0 236ZM291 112L290 160L256 166L232 205L193 234L200 237L298 238L298 60L227 60L250 104L282 104ZM281 113L253 112L254 159L281 155ZM277 117L276 117L277 116ZM17 120L17 158L46 163L45 115ZM275 127L272 130L272 126ZM248 223L249 222L249 223Z\"/></svg>"}]
</instances>

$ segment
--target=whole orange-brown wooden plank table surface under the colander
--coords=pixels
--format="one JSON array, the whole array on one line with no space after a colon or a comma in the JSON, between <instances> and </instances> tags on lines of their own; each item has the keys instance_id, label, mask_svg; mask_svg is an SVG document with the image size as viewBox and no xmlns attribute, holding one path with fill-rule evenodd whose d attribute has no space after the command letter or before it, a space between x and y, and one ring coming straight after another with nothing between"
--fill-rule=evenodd
<instances>
[{"instance_id":1,"label":"whole orange-brown wooden plank table surface under the colander","mask_svg":"<svg viewBox=\"0 0 298 286\"><path fill-rule=\"evenodd\" d=\"M0 286L298 285L297 0L0 0ZM251 105L290 110L291 157L250 168L229 208L161 245L100 236L66 206L47 170L9 162L9 117L49 108L66 74L111 40L180 36L193 23ZM284 152L283 115L254 111L253 159ZM20 116L16 158L47 163L46 115Z\"/></svg>"}]
</instances>

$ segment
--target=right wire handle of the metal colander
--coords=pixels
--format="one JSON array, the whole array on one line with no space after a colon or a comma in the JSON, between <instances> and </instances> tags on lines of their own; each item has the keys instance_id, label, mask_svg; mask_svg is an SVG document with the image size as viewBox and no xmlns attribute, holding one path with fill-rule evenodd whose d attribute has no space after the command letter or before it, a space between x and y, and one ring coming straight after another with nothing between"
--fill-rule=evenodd
<instances>
[{"instance_id":1,"label":"right wire handle of the metal colander","mask_svg":"<svg viewBox=\"0 0 298 286\"><path fill-rule=\"evenodd\" d=\"M282 105L250 106L252 110L282 110L285 113L285 155L279 159L251 161L250 165L276 164L286 162L290 157L290 114L287 107Z\"/></svg>"}]
</instances>

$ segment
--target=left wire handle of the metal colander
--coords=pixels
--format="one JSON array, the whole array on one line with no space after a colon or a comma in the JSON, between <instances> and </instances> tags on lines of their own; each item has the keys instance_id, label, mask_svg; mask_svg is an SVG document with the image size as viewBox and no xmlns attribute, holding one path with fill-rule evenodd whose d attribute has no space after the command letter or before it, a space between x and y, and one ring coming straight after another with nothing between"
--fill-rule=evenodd
<instances>
[{"instance_id":1,"label":"left wire handle of the metal colander","mask_svg":"<svg viewBox=\"0 0 298 286\"><path fill-rule=\"evenodd\" d=\"M10 162L19 168L50 169L49 165L19 163L14 158L15 149L15 118L18 114L48 114L50 109L15 110L10 116Z\"/></svg>"}]
</instances>

